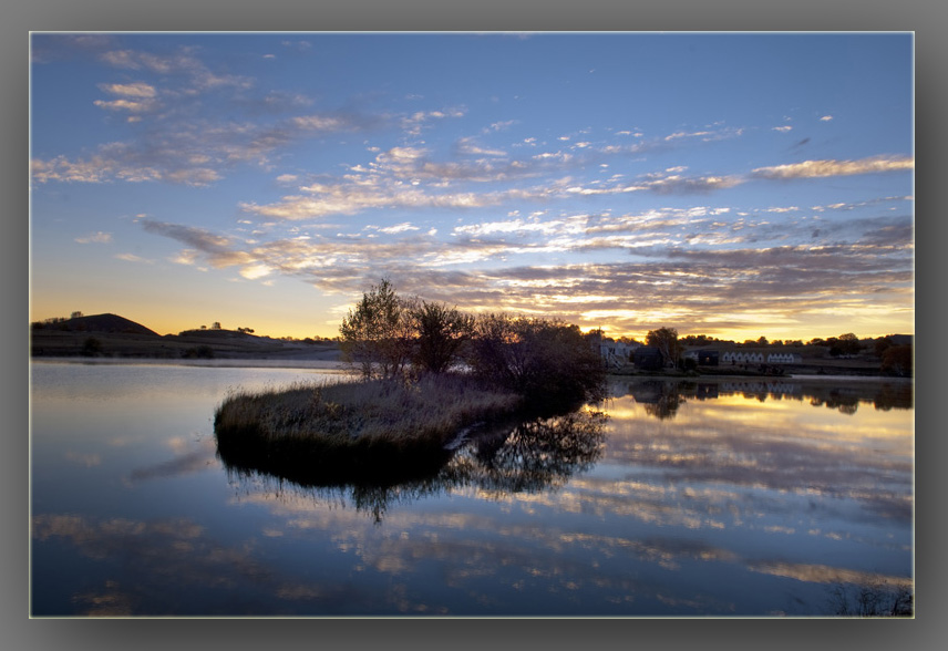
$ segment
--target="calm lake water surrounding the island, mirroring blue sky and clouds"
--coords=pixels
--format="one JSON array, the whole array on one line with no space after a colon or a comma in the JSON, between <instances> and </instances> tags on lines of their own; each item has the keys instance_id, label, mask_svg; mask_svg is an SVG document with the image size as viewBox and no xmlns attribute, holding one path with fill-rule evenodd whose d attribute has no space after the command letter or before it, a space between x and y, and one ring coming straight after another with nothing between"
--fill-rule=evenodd
<instances>
[{"instance_id":1,"label":"calm lake water surrounding the island, mirroring blue sky and clouds","mask_svg":"<svg viewBox=\"0 0 948 651\"><path fill-rule=\"evenodd\" d=\"M336 376L34 362L32 613L808 617L911 585L910 385L615 382L385 487L218 457L229 390Z\"/></svg>"}]
</instances>

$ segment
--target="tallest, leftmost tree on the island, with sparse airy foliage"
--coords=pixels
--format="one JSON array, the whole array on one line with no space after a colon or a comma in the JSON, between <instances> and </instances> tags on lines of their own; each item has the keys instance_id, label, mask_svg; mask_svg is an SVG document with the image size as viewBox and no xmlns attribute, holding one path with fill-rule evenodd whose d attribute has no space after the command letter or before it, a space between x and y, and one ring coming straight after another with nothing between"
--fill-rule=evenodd
<instances>
[{"instance_id":1,"label":"tallest, leftmost tree on the island, with sparse airy foliage","mask_svg":"<svg viewBox=\"0 0 948 651\"><path fill-rule=\"evenodd\" d=\"M383 278L342 319L339 333L343 358L359 364L363 378L403 374L411 358L411 308Z\"/></svg>"}]
</instances>

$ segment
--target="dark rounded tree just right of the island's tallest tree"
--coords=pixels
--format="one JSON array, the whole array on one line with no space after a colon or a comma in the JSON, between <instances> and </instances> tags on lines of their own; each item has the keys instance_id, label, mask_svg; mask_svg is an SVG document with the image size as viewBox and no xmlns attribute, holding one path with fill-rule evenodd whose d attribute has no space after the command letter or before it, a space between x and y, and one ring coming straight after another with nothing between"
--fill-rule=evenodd
<instances>
[{"instance_id":1,"label":"dark rounded tree just right of the island's tallest tree","mask_svg":"<svg viewBox=\"0 0 948 651\"><path fill-rule=\"evenodd\" d=\"M413 361L420 371L445 372L474 333L474 317L444 303L416 302L412 319L418 333Z\"/></svg>"}]
</instances>

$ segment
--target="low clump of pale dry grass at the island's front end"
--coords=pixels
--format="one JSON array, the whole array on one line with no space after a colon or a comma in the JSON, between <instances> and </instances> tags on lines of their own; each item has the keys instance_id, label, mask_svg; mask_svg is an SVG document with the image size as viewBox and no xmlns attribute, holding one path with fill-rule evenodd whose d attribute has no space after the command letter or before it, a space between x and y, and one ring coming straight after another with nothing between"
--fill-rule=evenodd
<instances>
[{"instance_id":1,"label":"low clump of pale dry grass at the island's front end","mask_svg":"<svg viewBox=\"0 0 948 651\"><path fill-rule=\"evenodd\" d=\"M297 384L231 394L214 428L218 454L234 465L379 478L387 469L443 462L445 445L464 427L508 416L521 404L516 393L457 374Z\"/></svg>"}]
</instances>

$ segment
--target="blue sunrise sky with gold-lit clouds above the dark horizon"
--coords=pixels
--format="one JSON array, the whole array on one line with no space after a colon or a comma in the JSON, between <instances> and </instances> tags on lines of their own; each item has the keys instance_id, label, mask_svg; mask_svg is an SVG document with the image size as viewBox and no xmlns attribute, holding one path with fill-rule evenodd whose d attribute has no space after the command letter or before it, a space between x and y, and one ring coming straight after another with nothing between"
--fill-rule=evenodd
<instances>
[{"instance_id":1,"label":"blue sunrise sky with gold-lit clouds above the dark horizon","mask_svg":"<svg viewBox=\"0 0 948 651\"><path fill-rule=\"evenodd\" d=\"M43 33L30 319L914 333L911 33Z\"/></svg>"}]
</instances>

